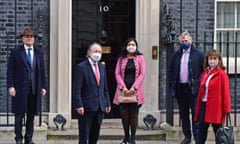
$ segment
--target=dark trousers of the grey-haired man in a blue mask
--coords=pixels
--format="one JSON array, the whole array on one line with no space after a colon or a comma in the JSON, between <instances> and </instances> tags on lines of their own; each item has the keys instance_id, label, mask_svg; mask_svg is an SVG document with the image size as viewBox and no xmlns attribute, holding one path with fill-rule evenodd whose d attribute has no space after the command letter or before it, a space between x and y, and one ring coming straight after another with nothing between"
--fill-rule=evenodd
<instances>
[{"instance_id":1,"label":"dark trousers of the grey-haired man in a blue mask","mask_svg":"<svg viewBox=\"0 0 240 144\"><path fill-rule=\"evenodd\" d=\"M182 122L182 130L185 138L191 139L191 123L192 131L195 141L198 137L198 125L193 121L195 115L197 97L192 95L191 87L189 84L179 84L178 85L178 97L177 102L179 106L180 119ZM192 115L192 121L190 122L190 109Z\"/></svg>"}]
</instances>

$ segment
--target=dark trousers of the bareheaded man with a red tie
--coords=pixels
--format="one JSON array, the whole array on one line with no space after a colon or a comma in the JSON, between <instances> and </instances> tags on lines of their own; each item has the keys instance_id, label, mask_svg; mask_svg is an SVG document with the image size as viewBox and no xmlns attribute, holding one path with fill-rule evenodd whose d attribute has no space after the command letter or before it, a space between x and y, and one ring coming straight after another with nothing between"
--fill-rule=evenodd
<instances>
[{"instance_id":1,"label":"dark trousers of the bareheaded man with a red tie","mask_svg":"<svg viewBox=\"0 0 240 144\"><path fill-rule=\"evenodd\" d=\"M97 144L104 113L102 111L85 111L78 118L79 144Z\"/></svg>"}]
</instances>

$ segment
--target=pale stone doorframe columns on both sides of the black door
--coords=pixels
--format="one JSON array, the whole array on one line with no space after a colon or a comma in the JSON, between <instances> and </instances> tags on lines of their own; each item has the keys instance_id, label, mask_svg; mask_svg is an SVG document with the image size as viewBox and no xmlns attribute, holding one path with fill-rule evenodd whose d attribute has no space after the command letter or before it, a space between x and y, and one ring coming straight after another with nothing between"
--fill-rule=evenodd
<instances>
[{"instance_id":1,"label":"pale stone doorframe columns on both sides of the black door","mask_svg":"<svg viewBox=\"0 0 240 144\"><path fill-rule=\"evenodd\" d=\"M136 0L136 39L144 54L147 74L144 80L146 102L140 109L139 126L142 119L151 114L160 123L158 109L158 63L152 59L152 46L159 48L159 0ZM71 121L72 80L72 0L50 1L50 112L48 124L55 127L53 118L57 114ZM150 71L151 70L151 71Z\"/></svg>"}]
</instances>

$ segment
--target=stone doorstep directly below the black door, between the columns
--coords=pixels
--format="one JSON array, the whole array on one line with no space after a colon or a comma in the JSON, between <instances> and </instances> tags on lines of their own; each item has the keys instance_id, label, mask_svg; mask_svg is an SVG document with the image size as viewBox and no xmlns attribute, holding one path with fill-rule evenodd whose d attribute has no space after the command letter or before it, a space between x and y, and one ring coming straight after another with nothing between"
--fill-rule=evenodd
<instances>
[{"instance_id":1,"label":"stone doorstep directly below the black door, between the columns","mask_svg":"<svg viewBox=\"0 0 240 144\"><path fill-rule=\"evenodd\" d=\"M138 140L165 140L166 133L163 130L137 130ZM78 121L72 120L70 129L65 131L48 129L48 140L77 140ZM101 125L101 140L121 140L123 139L123 129L121 119L104 119Z\"/></svg>"}]
</instances>

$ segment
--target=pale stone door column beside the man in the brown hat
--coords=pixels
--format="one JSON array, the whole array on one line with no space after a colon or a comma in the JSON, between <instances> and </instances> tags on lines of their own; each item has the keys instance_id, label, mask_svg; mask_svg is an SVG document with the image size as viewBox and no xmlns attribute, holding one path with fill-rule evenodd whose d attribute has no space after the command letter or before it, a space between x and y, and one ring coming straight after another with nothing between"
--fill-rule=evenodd
<instances>
[{"instance_id":1,"label":"pale stone door column beside the man in the brown hat","mask_svg":"<svg viewBox=\"0 0 240 144\"><path fill-rule=\"evenodd\" d=\"M71 122L72 0L50 1L50 98L48 124L57 114Z\"/></svg>"}]
</instances>

